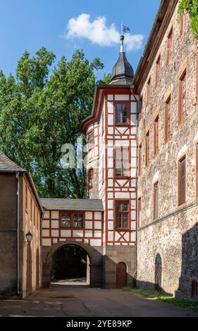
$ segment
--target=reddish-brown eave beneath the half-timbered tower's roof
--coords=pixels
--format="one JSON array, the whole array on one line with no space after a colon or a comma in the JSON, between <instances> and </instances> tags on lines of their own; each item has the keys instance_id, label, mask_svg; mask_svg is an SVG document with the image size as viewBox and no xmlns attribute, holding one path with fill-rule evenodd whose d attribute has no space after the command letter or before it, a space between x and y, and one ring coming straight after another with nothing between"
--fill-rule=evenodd
<instances>
[{"instance_id":1,"label":"reddish-brown eave beneath the half-timbered tower's roof","mask_svg":"<svg viewBox=\"0 0 198 331\"><path fill-rule=\"evenodd\" d=\"M106 91L108 91L108 89L116 89L116 90L117 89L130 89L131 86L132 85L96 85L96 87L94 89L94 100L93 100L93 106L92 106L92 113L91 113L91 115L87 116L87 118L85 118L85 120L82 121L82 124L81 124L82 132L86 133L87 125L90 125L93 122L99 120L99 118L97 117L97 108L101 106L99 104L99 101L101 101L102 97L104 96L103 95L104 90L106 92ZM100 100L98 98L99 92L101 92Z\"/></svg>"}]
</instances>

